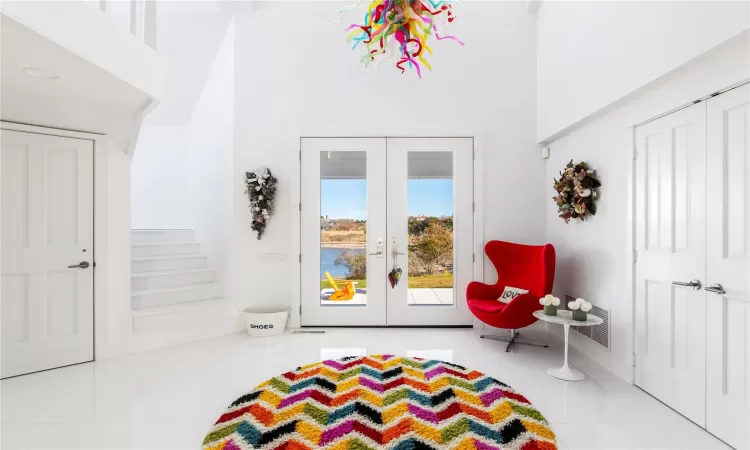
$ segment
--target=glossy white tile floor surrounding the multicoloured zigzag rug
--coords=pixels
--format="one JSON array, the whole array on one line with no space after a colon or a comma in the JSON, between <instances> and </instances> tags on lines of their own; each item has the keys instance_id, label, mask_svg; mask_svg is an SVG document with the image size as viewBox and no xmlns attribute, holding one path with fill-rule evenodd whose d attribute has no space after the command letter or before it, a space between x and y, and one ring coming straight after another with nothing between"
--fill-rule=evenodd
<instances>
[{"instance_id":1,"label":"glossy white tile floor surrounding the multicoloured zigzag rug","mask_svg":"<svg viewBox=\"0 0 750 450\"><path fill-rule=\"evenodd\" d=\"M575 353L588 378L551 378L545 370L561 365L562 345L544 326L532 328L528 337L550 348L505 353L505 344L480 339L478 330L236 334L3 380L0 448L198 449L224 408L258 383L301 364L365 353L450 360L490 374L549 419L561 449L727 448Z\"/></svg>"}]
</instances>

